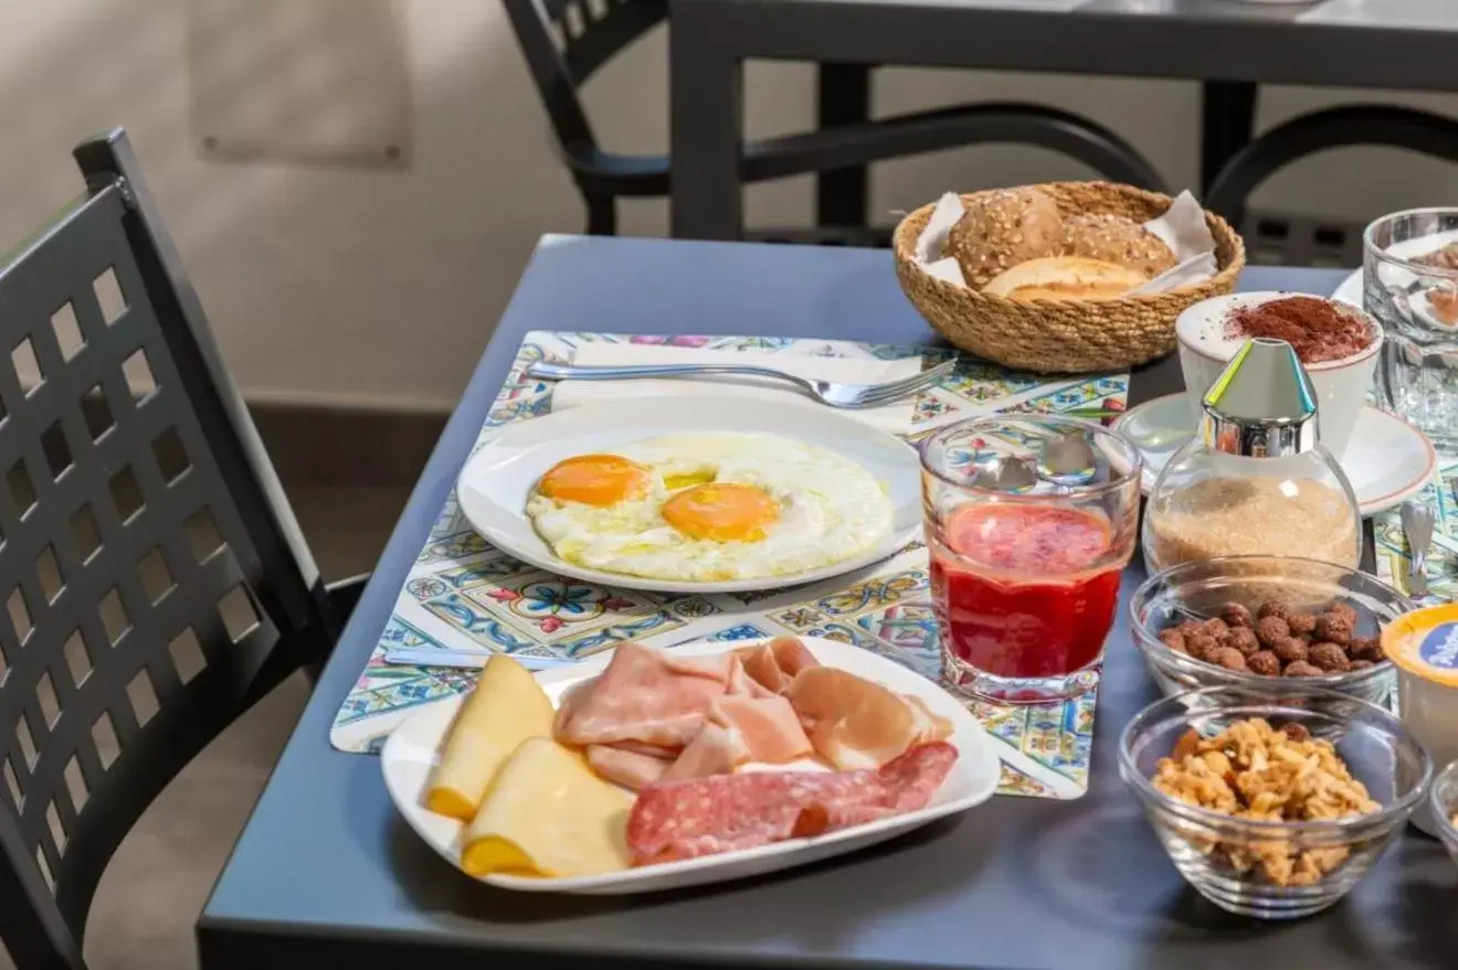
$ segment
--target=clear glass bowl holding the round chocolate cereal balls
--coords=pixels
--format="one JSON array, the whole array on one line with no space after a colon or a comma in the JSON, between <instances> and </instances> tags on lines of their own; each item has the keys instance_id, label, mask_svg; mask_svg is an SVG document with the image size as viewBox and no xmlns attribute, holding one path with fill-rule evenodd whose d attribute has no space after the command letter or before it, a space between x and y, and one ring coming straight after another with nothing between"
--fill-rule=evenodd
<instances>
[{"instance_id":1,"label":"clear glass bowl holding the round chocolate cereal balls","mask_svg":"<svg viewBox=\"0 0 1458 970\"><path fill-rule=\"evenodd\" d=\"M1413 609L1391 585L1357 569L1296 556L1225 556L1184 562L1152 575L1128 600L1128 628L1166 696L1222 685L1289 685L1292 677L1229 670L1175 652L1159 639L1159 631L1181 620L1219 616L1226 603L1235 602L1254 612L1268 599L1314 607L1341 600L1356 610L1356 636L1376 636L1381 626ZM1299 680L1382 706L1388 705L1394 686L1392 664L1387 660L1366 670Z\"/></svg>"}]
</instances>

